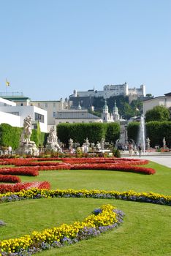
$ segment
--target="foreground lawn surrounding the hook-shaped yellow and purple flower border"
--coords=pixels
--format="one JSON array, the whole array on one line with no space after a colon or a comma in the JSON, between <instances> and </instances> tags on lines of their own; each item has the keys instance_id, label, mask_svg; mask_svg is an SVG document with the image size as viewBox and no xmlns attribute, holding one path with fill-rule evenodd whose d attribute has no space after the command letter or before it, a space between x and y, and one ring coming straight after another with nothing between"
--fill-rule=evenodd
<instances>
[{"instance_id":1,"label":"foreground lawn surrounding the hook-shaped yellow and purple flower border","mask_svg":"<svg viewBox=\"0 0 171 256\"><path fill-rule=\"evenodd\" d=\"M169 255L170 207L120 200L48 198L1 204L1 218L7 225L1 227L0 239L81 221L104 203L111 203L125 212L124 222L118 229L39 255L94 256L104 255L104 252L106 255Z\"/></svg>"}]
</instances>

